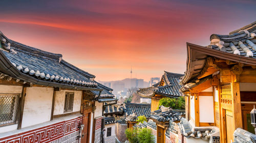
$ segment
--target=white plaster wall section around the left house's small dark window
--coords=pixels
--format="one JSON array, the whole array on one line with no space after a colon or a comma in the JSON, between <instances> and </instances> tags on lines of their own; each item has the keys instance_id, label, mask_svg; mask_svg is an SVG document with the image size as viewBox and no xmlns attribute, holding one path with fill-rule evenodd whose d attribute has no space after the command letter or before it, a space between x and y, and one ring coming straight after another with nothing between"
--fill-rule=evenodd
<instances>
[{"instance_id":1,"label":"white plaster wall section around the left house's small dark window","mask_svg":"<svg viewBox=\"0 0 256 143\"><path fill-rule=\"evenodd\" d=\"M80 111L82 91L60 90L56 91L53 115L64 113L66 92L74 92L73 112Z\"/></svg>"}]
</instances>

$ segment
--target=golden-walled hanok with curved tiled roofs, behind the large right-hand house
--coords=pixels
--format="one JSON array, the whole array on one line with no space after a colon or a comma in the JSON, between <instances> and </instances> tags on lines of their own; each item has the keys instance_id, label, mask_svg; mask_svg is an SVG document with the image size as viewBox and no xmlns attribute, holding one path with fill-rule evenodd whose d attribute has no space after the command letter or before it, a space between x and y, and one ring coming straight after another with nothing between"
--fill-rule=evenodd
<instances>
[{"instance_id":1,"label":"golden-walled hanok with curved tiled roofs, behind the large right-hand house","mask_svg":"<svg viewBox=\"0 0 256 143\"><path fill-rule=\"evenodd\" d=\"M151 129L153 132L156 132L156 142L158 143L168 142L170 140L173 142L179 141L178 132L169 130L169 128L175 127L178 129L177 123L184 116L185 110L175 111L175 109L164 106L159 107L159 100L164 97L179 98L182 96L182 93L179 91L181 88L179 82L182 76L184 75L164 71L160 82L154 84L152 87L141 88L137 91L140 96L151 98L152 114L150 119L157 125L156 131L154 128Z\"/></svg>"}]
</instances>

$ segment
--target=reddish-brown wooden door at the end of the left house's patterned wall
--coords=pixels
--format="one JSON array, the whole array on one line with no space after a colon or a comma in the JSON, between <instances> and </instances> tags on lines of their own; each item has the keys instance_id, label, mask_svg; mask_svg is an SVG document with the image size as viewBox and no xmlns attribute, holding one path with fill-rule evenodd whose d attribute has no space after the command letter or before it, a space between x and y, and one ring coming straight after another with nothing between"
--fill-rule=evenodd
<instances>
[{"instance_id":1,"label":"reddish-brown wooden door at the end of the left house's patterned wall","mask_svg":"<svg viewBox=\"0 0 256 143\"><path fill-rule=\"evenodd\" d=\"M88 143L90 138L90 118L91 113L85 113L83 116L83 130L82 130L82 138L81 143Z\"/></svg>"}]
</instances>

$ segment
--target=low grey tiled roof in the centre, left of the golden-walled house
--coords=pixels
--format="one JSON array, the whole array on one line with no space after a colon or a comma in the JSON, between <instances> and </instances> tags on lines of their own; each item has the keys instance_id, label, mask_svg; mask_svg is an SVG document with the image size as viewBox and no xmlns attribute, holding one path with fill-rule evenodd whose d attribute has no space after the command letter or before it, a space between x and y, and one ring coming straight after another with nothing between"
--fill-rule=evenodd
<instances>
[{"instance_id":1,"label":"low grey tiled roof in the centre, left of the golden-walled house","mask_svg":"<svg viewBox=\"0 0 256 143\"><path fill-rule=\"evenodd\" d=\"M136 113L137 116L144 115L146 118L150 116L151 104L124 103L126 116Z\"/></svg>"}]
</instances>

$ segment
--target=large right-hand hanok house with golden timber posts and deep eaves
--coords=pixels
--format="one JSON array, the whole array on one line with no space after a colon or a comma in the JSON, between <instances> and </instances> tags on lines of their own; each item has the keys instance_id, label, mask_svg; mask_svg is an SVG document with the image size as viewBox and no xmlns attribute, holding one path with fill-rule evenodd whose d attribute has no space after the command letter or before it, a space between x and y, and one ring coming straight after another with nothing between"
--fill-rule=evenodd
<instances>
[{"instance_id":1,"label":"large right-hand hanok house with golden timber posts and deep eaves","mask_svg":"<svg viewBox=\"0 0 256 143\"><path fill-rule=\"evenodd\" d=\"M210 140L232 142L238 128L254 133L249 112L256 103L255 33L256 21L228 35L212 34L207 47L187 43L181 81L186 119L192 127L216 126Z\"/></svg>"}]
</instances>

